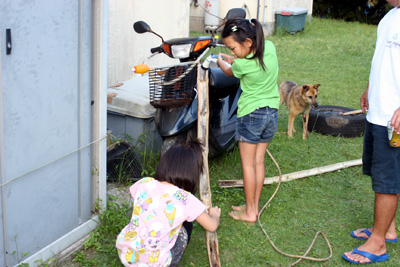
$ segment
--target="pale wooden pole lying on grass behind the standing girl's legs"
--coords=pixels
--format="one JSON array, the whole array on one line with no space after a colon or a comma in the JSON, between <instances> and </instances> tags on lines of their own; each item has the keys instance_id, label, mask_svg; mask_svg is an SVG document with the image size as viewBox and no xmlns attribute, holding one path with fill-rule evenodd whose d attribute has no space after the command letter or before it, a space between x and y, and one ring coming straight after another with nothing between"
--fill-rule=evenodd
<instances>
[{"instance_id":1,"label":"pale wooden pole lying on grass behind the standing girl's legs","mask_svg":"<svg viewBox=\"0 0 400 267\"><path fill-rule=\"evenodd\" d=\"M357 166L357 165L361 165L361 164L362 164L362 160L356 159L356 160L350 160L350 161L339 162L339 163L335 163L335 164L331 164L331 165L326 165L326 166L322 166L322 167L317 167L317 168L313 168L313 169L309 169L309 170L303 170L303 171L283 174L282 182L288 182L291 180L314 176L314 175L318 175L318 174L323 174L326 172L333 172L333 171L337 171L340 169ZM268 177L268 178L265 178L265 180L264 180L264 184L272 184L272 183L277 183L277 182L279 182L279 176ZM224 187L224 188L243 187L243 180L220 180L219 186Z\"/></svg>"}]
</instances>

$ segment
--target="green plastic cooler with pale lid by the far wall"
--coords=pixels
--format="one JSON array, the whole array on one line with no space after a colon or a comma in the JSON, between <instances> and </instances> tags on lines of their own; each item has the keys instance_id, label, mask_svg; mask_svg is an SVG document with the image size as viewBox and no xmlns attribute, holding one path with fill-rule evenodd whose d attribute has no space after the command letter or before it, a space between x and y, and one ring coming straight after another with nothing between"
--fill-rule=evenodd
<instances>
[{"instance_id":1,"label":"green plastic cooler with pale lid by the far wall","mask_svg":"<svg viewBox=\"0 0 400 267\"><path fill-rule=\"evenodd\" d=\"M307 8L289 7L275 11L276 28L284 27L291 34L304 29L307 17Z\"/></svg>"}]
</instances>

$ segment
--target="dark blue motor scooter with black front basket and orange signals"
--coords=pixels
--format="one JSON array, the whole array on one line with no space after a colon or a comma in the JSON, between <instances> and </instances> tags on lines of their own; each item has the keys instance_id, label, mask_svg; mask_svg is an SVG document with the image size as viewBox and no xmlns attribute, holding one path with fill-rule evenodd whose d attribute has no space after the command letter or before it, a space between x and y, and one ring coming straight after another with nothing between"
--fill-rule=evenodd
<instances>
[{"instance_id":1,"label":"dark blue motor scooter with black front basket and orange signals","mask_svg":"<svg viewBox=\"0 0 400 267\"><path fill-rule=\"evenodd\" d=\"M164 153L173 144L197 136L196 82L199 64L196 63L209 48L218 46L219 40L212 36L200 36L164 41L144 21L135 22L133 28L137 33L150 32L161 38L161 45L150 49L153 55L164 53L181 62L173 66L148 69L150 103L156 108L155 123L163 138L161 153ZM239 79L227 77L214 62L215 56L211 54L201 64L201 67L207 68L209 72L210 156L233 149L237 102L241 94ZM135 69L135 72L147 71L137 71L136 67Z\"/></svg>"}]
</instances>

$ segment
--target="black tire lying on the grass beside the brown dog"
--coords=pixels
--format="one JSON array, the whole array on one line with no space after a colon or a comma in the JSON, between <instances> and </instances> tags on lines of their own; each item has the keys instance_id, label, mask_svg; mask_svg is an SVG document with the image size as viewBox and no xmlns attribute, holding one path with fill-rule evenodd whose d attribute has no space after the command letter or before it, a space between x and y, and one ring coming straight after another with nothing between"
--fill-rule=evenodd
<instances>
[{"instance_id":1,"label":"black tire lying on the grass beside the brown dog","mask_svg":"<svg viewBox=\"0 0 400 267\"><path fill-rule=\"evenodd\" d=\"M308 131L324 135L359 137L364 134L366 115L364 113L354 115L340 115L352 108L320 105L310 110Z\"/></svg>"}]
</instances>

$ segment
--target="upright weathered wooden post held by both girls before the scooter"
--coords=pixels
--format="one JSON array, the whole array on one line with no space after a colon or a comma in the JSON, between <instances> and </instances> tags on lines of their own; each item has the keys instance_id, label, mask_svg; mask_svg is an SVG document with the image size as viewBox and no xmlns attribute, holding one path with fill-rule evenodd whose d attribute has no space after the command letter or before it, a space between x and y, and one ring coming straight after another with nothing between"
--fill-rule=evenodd
<instances>
[{"instance_id":1,"label":"upright weathered wooden post held by both girls before the scooter","mask_svg":"<svg viewBox=\"0 0 400 267\"><path fill-rule=\"evenodd\" d=\"M198 113L197 113L197 137L204 144L203 152L203 173L200 177L200 199L207 209L212 207L210 177L208 173L208 131L209 131L209 102L208 102L208 71L198 66L197 70L197 93L198 93ZM218 237L217 232L206 232L207 252L210 266L220 267Z\"/></svg>"}]
</instances>

